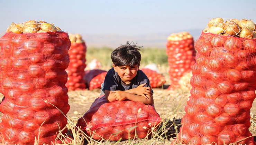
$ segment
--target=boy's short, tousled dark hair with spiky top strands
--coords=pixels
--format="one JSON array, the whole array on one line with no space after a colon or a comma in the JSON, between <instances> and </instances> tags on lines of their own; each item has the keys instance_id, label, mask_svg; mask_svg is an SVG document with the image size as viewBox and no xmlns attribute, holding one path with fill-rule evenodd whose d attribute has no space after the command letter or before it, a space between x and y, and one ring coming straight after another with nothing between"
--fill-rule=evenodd
<instances>
[{"instance_id":1,"label":"boy's short, tousled dark hair with spiky top strands","mask_svg":"<svg viewBox=\"0 0 256 145\"><path fill-rule=\"evenodd\" d=\"M136 43L137 44L137 43ZM142 46L131 45L129 41L126 45L121 45L111 53L111 59L115 66L135 66L140 65ZM142 52L142 51L141 51Z\"/></svg>"}]
</instances>

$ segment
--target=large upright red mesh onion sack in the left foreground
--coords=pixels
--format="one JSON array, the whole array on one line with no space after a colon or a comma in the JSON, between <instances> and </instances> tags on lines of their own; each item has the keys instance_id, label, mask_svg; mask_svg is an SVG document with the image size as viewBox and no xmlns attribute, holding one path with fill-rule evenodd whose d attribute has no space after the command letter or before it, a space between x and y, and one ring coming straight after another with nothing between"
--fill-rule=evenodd
<instances>
[{"instance_id":1,"label":"large upright red mesh onion sack in the left foreground","mask_svg":"<svg viewBox=\"0 0 256 145\"><path fill-rule=\"evenodd\" d=\"M67 132L70 45L66 32L35 20L12 23L0 38L1 143L55 144Z\"/></svg>"}]
</instances>

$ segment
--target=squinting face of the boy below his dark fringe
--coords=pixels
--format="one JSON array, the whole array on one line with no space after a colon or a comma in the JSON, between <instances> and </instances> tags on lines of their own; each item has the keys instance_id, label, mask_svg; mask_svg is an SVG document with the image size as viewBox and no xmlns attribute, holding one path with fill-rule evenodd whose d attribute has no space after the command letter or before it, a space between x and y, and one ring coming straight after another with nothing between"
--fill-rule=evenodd
<instances>
[{"instance_id":1,"label":"squinting face of the boy below his dark fringe","mask_svg":"<svg viewBox=\"0 0 256 145\"><path fill-rule=\"evenodd\" d=\"M115 66L114 70L118 73L119 77L125 84L130 84L131 80L137 75L139 66Z\"/></svg>"}]
</instances>

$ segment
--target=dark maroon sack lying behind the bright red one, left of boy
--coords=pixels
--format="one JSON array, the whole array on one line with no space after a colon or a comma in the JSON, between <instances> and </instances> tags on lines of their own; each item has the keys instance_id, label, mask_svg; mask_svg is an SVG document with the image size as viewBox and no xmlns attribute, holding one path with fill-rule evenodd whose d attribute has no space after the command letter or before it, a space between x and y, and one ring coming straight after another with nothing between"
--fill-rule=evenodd
<instances>
[{"instance_id":1,"label":"dark maroon sack lying behind the bright red one, left of boy","mask_svg":"<svg viewBox=\"0 0 256 145\"><path fill-rule=\"evenodd\" d=\"M95 76L101 74L102 72L107 72L107 71L106 71L106 70L101 70L101 69L86 70L86 71L85 71L85 75L84 75L84 77L83 77L83 80L84 80L85 85L86 85L87 87L89 87L91 80L92 80ZM105 78L103 78L103 82L104 82L104 79L105 79ZM103 82L102 82L102 83L103 83Z\"/></svg>"}]
</instances>

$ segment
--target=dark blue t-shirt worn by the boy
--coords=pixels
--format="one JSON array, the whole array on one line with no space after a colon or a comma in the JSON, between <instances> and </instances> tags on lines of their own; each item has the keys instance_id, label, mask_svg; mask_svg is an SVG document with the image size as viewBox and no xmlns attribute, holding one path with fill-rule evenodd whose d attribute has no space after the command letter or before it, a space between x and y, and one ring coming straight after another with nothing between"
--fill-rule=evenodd
<instances>
[{"instance_id":1,"label":"dark blue t-shirt worn by the boy","mask_svg":"<svg viewBox=\"0 0 256 145\"><path fill-rule=\"evenodd\" d=\"M104 93L105 90L124 91L124 90L137 88L139 85L144 83L147 83L144 87L150 87L149 79L142 70L138 70L137 75L131 80L131 83L126 85L121 81L121 78L119 77L118 73L115 72L114 68L111 68L107 72L104 83L101 84L101 95L105 94ZM152 93L153 93L153 90L152 90Z\"/></svg>"}]
</instances>

